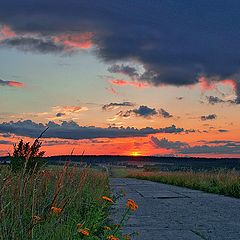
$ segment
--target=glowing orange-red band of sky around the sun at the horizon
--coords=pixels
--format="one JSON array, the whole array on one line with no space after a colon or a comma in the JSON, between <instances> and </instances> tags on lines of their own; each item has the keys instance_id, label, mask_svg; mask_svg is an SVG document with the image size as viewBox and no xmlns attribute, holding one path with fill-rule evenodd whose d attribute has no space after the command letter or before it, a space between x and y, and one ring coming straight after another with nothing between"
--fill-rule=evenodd
<instances>
[{"instance_id":1,"label":"glowing orange-red band of sky around the sun at the horizon","mask_svg":"<svg viewBox=\"0 0 240 240\"><path fill-rule=\"evenodd\" d=\"M186 135L187 136L187 135ZM159 138L164 138L165 135L159 134ZM198 136L199 137L199 136ZM215 137L215 135L214 135ZM0 156L8 155L8 152L12 153L13 147L12 143L19 141L23 138L24 141L30 141L31 143L34 139L29 137L8 137L3 138L0 136ZM198 138L199 139L199 138ZM215 139L215 138L213 138ZM187 139L186 139L187 140ZM188 139L189 140L189 139ZM192 140L192 137L191 137ZM46 151L46 156L51 155L69 155L74 149L74 154L81 155L84 151L86 155L159 155L163 156L166 154L172 154L177 156L194 156L194 157L240 157L239 154L226 154L222 153L179 153L176 149L168 149L166 146L159 149L154 146L149 137L139 137L139 138L99 138L99 139L86 139L86 140L70 140L70 139L58 139L58 138L43 138L41 139L43 145L42 150ZM178 139L175 136L169 140L170 143L178 143ZM185 141L185 140L180 140ZM238 141L238 139L236 140ZM8 143L9 142L9 143ZM12 142L12 143L11 143ZM205 143L206 142L206 143ZM216 143L214 143L216 142ZM218 144L219 142L219 144ZM223 144L221 144L223 142ZM231 142L226 140L214 140L213 143L208 140L199 143L196 141L186 142L189 144L190 149L195 149L199 145L207 144L210 147L218 145L224 145L225 142ZM234 140L233 140L234 142ZM200 148L202 148L200 146Z\"/></svg>"}]
</instances>

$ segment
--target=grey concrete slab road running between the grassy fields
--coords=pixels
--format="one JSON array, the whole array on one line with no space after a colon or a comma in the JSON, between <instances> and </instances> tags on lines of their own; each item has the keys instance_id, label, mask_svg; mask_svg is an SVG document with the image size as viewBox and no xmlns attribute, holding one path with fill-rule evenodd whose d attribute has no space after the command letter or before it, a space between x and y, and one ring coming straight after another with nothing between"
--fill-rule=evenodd
<instances>
[{"instance_id":1,"label":"grey concrete slab road running between the grassy fields","mask_svg":"<svg viewBox=\"0 0 240 240\"><path fill-rule=\"evenodd\" d=\"M240 240L240 199L144 180L111 178L114 193L124 189L112 210L119 222L128 198L139 205L126 233L138 240Z\"/></svg>"}]
</instances>

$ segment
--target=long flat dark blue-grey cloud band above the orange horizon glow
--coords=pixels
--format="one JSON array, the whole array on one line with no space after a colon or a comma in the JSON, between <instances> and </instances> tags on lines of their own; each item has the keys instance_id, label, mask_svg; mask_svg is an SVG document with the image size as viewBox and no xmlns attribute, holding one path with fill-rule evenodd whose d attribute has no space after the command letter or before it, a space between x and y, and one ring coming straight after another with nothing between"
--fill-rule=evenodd
<instances>
[{"instance_id":1,"label":"long flat dark blue-grey cloud band above the orange horizon glow","mask_svg":"<svg viewBox=\"0 0 240 240\"><path fill-rule=\"evenodd\" d=\"M11 133L17 136L36 138L49 127L44 138L65 138L65 139L93 139L93 138L124 138L143 137L155 133L183 133L187 130L177 128L175 125L164 128L133 128L133 127L108 127L79 126L76 122L63 121L61 124L49 122L48 124L35 123L31 120L18 122L3 122L0 124L0 133Z\"/></svg>"}]
</instances>

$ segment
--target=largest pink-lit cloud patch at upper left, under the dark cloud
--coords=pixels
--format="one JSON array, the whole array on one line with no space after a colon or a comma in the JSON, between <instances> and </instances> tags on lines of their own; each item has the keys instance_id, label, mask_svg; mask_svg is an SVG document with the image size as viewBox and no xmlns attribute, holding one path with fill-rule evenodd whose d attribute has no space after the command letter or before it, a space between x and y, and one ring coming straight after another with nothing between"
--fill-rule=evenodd
<instances>
[{"instance_id":1,"label":"largest pink-lit cloud patch at upper left, under the dark cloud","mask_svg":"<svg viewBox=\"0 0 240 240\"><path fill-rule=\"evenodd\" d=\"M92 43L93 33L86 32L82 34L62 34L53 37L55 43L63 44L70 48L89 49L93 46Z\"/></svg>"}]
</instances>

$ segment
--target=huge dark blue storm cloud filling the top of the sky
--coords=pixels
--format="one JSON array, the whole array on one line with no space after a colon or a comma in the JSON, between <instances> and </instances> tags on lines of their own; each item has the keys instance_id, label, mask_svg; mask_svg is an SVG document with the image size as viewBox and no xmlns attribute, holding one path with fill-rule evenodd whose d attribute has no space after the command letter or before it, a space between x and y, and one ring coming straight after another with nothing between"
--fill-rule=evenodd
<instances>
[{"instance_id":1,"label":"huge dark blue storm cloud filling the top of the sky","mask_svg":"<svg viewBox=\"0 0 240 240\"><path fill-rule=\"evenodd\" d=\"M93 32L100 58L142 63L139 80L155 86L234 79L240 103L239 8L238 0L3 0L0 16L17 33Z\"/></svg>"}]
</instances>

